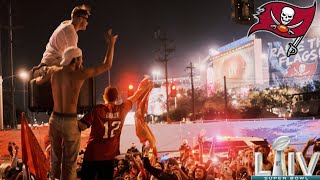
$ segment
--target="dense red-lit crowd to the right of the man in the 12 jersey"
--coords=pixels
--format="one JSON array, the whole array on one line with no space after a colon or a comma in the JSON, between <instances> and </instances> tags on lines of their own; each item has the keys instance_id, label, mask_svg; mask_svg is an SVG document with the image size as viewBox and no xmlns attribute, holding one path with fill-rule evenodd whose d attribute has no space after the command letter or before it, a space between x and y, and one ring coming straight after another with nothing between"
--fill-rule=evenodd
<instances>
[{"instance_id":1,"label":"dense red-lit crowd to the right of the man in the 12 jersey","mask_svg":"<svg viewBox=\"0 0 320 180\"><path fill-rule=\"evenodd\" d=\"M201 142L199 142L201 144ZM313 153L320 152L320 138L309 139L301 150L309 164L308 149L313 146ZM200 154L192 153L192 148L184 142L180 148L180 157L153 157L147 146L140 152L134 144L128 149L123 159L114 161L113 179L116 180L249 180L255 175L254 153L262 154L262 170L273 170L274 152L270 145L237 148L230 147L227 157L204 161ZM299 150L300 151L300 150ZM285 149L285 163L288 168L288 153L297 152L289 146ZM214 155L213 155L214 156ZM165 156L164 156L165 157ZM295 162L295 175L303 175L298 161ZM320 161L314 170L320 175ZM79 171L79 178L81 171ZM98 176L97 176L97 179Z\"/></svg>"}]
</instances>

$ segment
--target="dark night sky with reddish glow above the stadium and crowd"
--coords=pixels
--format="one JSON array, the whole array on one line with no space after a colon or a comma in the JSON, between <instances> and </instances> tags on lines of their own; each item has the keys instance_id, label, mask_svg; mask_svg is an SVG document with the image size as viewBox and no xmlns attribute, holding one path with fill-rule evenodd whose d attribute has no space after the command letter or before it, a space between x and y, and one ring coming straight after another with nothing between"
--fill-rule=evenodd
<instances>
[{"instance_id":1,"label":"dark night sky with reddish glow above the stadium and crowd","mask_svg":"<svg viewBox=\"0 0 320 180\"><path fill-rule=\"evenodd\" d=\"M259 1L255 6L261 5ZM13 3L14 69L39 64L45 46L55 28L70 19L73 7L88 4L92 16L86 31L80 31L78 46L83 50L86 67L102 62L105 52L104 32L108 27L119 35L111 69L112 85L125 89L138 83L144 74L164 65L155 61L159 41L153 32L160 27L174 40L176 51L168 63L169 78L188 75L185 67L218 48L246 36L249 26L238 25L230 18L229 0L117 0L117 1L18 1ZM1 25L8 25L9 0L0 0ZM2 28L3 77L10 75L8 30ZM98 78L97 97L101 97L108 76ZM4 82L5 84L6 82ZM17 85L18 86L18 85ZM17 87L18 88L18 87Z\"/></svg>"}]
</instances>

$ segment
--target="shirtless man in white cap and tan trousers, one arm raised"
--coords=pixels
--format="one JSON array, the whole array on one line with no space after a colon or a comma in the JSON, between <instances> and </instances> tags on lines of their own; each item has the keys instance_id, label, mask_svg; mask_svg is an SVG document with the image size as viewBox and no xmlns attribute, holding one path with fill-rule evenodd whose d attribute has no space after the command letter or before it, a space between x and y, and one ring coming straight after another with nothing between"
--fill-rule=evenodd
<instances>
[{"instance_id":1,"label":"shirtless man in white cap and tan trousers, one arm raised","mask_svg":"<svg viewBox=\"0 0 320 180\"><path fill-rule=\"evenodd\" d=\"M84 81L108 70L113 61L117 36L110 29L106 34L108 49L104 63L92 68L82 67L82 51L69 47L64 52L62 67L51 68L37 83L51 80L53 112L49 119L51 141L51 179L76 179L76 160L80 148L80 130L77 124L77 102ZM60 175L61 174L61 175Z\"/></svg>"}]
</instances>

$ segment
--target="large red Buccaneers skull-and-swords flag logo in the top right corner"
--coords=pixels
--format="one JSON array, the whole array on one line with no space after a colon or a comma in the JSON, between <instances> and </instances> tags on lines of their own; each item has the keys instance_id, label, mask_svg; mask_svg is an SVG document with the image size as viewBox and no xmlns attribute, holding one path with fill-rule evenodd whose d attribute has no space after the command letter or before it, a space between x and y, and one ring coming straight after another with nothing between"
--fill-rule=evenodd
<instances>
[{"instance_id":1,"label":"large red Buccaneers skull-and-swords flag logo in the top right corner","mask_svg":"<svg viewBox=\"0 0 320 180\"><path fill-rule=\"evenodd\" d=\"M299 7L282 1L271 1L258 8L254 15L258 22L251 26L248 36L259 31L281 38L295 38L289 43L287 57L298 52L298 45L308 32L316 12L316 0L310 7Z\"/></svg>"}]
</instances>

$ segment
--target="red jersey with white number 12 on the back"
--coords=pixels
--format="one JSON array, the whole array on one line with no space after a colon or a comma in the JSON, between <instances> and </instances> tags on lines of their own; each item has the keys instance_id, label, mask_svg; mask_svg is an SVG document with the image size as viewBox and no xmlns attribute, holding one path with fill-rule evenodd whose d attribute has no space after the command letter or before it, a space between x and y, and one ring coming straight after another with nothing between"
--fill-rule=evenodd
<instances>
[{"instance_id":1,"label":"red jersey with white number 12 on the back","mask_svg":"<svg viewBox=\"0 0 320 180\"><path fill-rule=\"evenodd\" d=\"M121 105L100 104L80 119L88 127L91 126L84 160L113 160L120 154L121 130L131 107L129 100Z\"/></svg>"}]
</instances>

